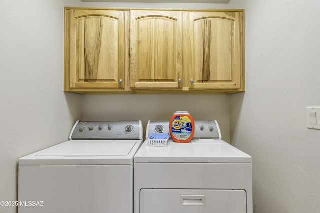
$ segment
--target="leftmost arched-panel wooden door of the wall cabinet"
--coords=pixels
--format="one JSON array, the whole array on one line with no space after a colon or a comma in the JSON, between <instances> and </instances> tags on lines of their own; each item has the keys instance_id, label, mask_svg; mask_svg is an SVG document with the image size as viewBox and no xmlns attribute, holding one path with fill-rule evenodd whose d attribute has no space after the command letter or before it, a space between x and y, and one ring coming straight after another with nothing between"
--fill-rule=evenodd
<instances>
[{"instance_id":1,"label":"leftmost arched-panel wooden door of the wall cabinet","mask_svg":"<svg viewBox=\"0 0 320 213\"><path fill-rule=\"evenodd\" d=\"M66 9L65 19L67 91L123 90L128 63L125 11Z\"/></svg>"}]
</instances>

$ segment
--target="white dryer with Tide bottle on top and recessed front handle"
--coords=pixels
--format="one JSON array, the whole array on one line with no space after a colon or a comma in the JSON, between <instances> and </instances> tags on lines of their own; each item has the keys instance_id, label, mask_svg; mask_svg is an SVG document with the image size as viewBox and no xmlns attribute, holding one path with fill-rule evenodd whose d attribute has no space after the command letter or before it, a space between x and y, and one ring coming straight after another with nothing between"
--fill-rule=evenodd
<instances>
[{"instance_id":1,"label":"white dryer with Tide bottle on top and recessed front handle","mask_svg":"<svg viewBox=\"0 0 320 213\"><path fill-rule=\"evenodd\" d=\"M155 133L169 121L149 121L146 138ZM134 157L134 213L252 213L251 156L221 140L215 120L195 121L189 143L149 141Z\"/></svg>"}]
</instances>

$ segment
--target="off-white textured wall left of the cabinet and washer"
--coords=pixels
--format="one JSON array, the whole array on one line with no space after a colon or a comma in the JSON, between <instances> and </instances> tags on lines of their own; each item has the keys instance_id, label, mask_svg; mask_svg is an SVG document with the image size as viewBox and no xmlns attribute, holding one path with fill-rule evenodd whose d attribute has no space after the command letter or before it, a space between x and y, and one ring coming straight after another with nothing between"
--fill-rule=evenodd
<instances>
[{"instance_id":1,"label":"off-white textured wall left of the cabinet and washer","mask_svg":"<svg viewBox=\"0 0 320 213\"><path fill-rule=\"evenodd\" d=\"M63 93L63 7L71 4L80 2L0 1L0 201L17 201L18 159L66 140L81 116L81 96Z\"/></svg>"}]
</instances>

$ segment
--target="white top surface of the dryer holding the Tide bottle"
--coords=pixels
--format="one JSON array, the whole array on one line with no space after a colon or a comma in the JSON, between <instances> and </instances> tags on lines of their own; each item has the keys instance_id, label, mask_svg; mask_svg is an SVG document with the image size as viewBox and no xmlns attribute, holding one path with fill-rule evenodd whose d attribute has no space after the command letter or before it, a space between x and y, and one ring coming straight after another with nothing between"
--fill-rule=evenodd
<instances>
[{"instance_id":1,"label":"white top surface of the dryer holding the Tide bottle","mask_svg":"<svg viewBox=\"0 0 320 213\"><path fill-rule=\"evenodd\" d=\"M134 162L252 163L251 156L220 139L196 139L189 143L168 140L167 146L149 146L145 140Z\"/></svg>"}]
</instances>

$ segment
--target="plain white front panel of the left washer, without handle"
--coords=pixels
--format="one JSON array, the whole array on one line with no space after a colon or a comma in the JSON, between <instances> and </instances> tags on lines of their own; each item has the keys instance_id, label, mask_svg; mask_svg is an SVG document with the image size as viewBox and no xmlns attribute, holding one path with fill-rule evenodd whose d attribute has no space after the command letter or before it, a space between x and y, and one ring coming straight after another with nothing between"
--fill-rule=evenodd
<instances>
[{"instance_id":1,"label":"plain white front panel of the left washer, without handle","mask_svg":"<svg viewBox=\"0 0 320 213\"><path fill-rule=\"evenodd\" d=\"M19 165L19 213L131 213L133 165Z\"/></svg>"}]
</instances>

